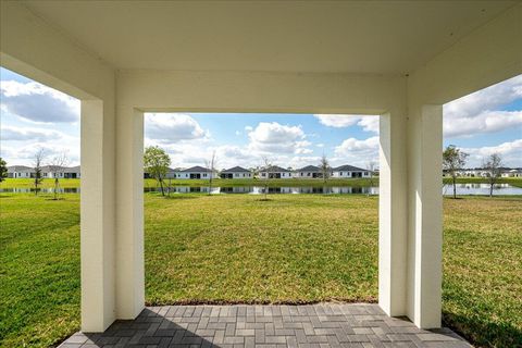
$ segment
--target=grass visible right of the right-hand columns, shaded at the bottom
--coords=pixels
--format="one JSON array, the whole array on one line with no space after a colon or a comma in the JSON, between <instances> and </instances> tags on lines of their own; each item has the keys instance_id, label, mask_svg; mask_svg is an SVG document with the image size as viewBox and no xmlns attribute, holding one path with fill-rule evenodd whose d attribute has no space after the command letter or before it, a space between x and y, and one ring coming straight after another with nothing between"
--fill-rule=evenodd
<instances>
[{"instance_id":1,"label":"grass visible right of the right-hand columns, shaded at the bottom","mask_svg":"<svg viewBox=\"0 0 522 348\"><path fill-rule=\"evenodd\" d=\"M445 323L484 347L522 347L522 198L444 200Z\"/></svg>"}]
</instances>

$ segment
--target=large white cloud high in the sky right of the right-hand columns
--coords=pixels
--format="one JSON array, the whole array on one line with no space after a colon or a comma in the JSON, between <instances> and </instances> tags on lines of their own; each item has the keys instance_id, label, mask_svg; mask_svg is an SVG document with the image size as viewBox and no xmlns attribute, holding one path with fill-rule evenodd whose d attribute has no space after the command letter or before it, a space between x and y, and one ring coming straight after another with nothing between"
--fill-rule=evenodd
<instances>
[{"instance_id":1,"label":"large white cloud high in the sky right of the right-hand columns","mask_svg":"<svg viewBox=\"0 0 522 348\"><path fill-rule=\"evenodd\" d=\"M444 105L444 136L461 137L522 126L522 111L497 111L522 98L522 75Z\"/></svg>"}]
</instances>

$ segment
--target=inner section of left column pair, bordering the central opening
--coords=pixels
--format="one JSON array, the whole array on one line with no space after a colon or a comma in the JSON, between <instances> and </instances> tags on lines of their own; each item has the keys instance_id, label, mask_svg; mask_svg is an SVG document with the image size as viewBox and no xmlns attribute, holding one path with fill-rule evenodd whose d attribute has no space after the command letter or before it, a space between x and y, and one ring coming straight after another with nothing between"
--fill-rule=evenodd
<instances>
[{"instance_id":1,"label":"inner section of left column pair, bordering the central opening","mask_svg":"<svg viewBox=\"0 0 522 348\"><path fill-rule=\"evenodd\" d=\"M116 318L145 307L144 113L116 110Z\"/></svg>"}]
</instances>

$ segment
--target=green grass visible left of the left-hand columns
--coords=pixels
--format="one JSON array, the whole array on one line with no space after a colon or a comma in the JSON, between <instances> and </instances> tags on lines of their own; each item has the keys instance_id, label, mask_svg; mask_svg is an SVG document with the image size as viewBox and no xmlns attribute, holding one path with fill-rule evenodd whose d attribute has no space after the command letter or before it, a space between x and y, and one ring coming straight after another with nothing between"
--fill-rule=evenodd
<instances>
[{"instance_id":1,"label":"green grass visible left of the left-hand columns","mask_svg":"<svg viewBox=\"0 0 522 348\"><path fill-rule=\"evenodd\" d=\"M79 195L0 195L0 347L47 347L79 327Z\"/></svg>"}]
</instances>

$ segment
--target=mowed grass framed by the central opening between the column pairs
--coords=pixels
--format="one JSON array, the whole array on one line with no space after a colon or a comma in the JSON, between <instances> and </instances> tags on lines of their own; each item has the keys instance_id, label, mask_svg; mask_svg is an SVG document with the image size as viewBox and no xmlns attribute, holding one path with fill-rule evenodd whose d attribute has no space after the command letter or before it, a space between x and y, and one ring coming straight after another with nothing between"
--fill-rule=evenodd
<instances>
[{"instance_id":1,"label":"mowed grass framed by the central opening between the column pairs","mask_svg":"<svg viewBox=\"0 0 522 348\"><path fill-rule=\"evenodd\" d=\"M269 197L150 197L148 303L375 299L376 198Z\"/></svg>"}]
</instances>

